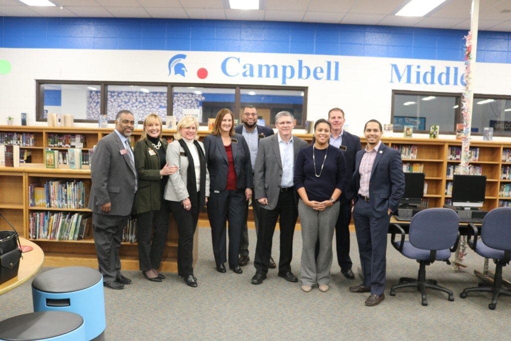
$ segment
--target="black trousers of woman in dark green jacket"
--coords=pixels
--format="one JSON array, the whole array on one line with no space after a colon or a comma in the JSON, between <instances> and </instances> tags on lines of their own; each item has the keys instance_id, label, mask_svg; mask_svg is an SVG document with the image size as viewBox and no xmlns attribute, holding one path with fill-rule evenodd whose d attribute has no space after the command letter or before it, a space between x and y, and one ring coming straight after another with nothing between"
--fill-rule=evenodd
<instances>
[{"instance_id":1,"label":"black trousers of woman in dark green jacket","mask_svg":"<svg viewBox=\"0 0 511 341\"><path fill-rule=\"evenodd\" d=\"M138 264L142 271L159 269L168 232L169 205L166 200L161 200L158 211L149 211L136 215Z\"/></svg>"}]
</instances>

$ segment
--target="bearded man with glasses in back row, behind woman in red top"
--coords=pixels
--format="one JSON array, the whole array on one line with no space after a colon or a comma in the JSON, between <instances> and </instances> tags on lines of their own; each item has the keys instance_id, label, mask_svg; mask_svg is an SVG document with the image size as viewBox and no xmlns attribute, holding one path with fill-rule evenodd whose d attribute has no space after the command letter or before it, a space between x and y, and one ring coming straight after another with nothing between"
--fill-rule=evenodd
<instances>
[{"instance_id":1,"label":"bearded man with glasses in back row, behind woman in red top","mask_svg":"<svg viewBox=\"0 0 511 341\"><path fill-rule=\"evenodd\" d=\"M241 116L241 121L243 124L237 126L234 130L238 134L242 134L245 138L245 141L248 144L248 148L250 149L250 161L252 163L252 173L255 167L255 157L257 156L257 151L259 148L259 141L264 139L270 135L273 135L273 129L261 126L257 124L257 109L253 105L246 105L243 108L243 115ZM254 217L255 224L255 233L257 233L259 229L259 202L254 199L254 192L252 192L252 214ZM247 204L247 214L248 214L248 204ZM248 228L247 224L242 230L241 235L241 244L240 244L240 266L247 265L250 261L250 257L248 257ZM276 267L275 262L273 262L273 258L270 256L270 268L274 269Z\"/></svg>"}]
</instances>

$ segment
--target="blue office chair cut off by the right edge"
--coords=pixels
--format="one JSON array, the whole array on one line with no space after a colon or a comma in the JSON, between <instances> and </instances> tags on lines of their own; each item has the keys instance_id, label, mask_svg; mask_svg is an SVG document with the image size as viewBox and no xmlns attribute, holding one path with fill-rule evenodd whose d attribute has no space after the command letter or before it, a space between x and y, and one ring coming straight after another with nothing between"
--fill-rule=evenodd
<instances>
[{"instance_id":1,"label":"blue office chair cut off by the right edge","mask_svg":"<svg viewBox=\"0 0 511 341\"><path fill-rule=\"evenodd\" d=\"M499 207L486 214L481 226L481 239L477 240L477 228L472 226L472 235L468 237L469 246L485 258L491 258L496 264L495 275L492 286L480 284L478 287L464 289L459 297L467 297L471 291L492 292L492 302L488 305L490 309L497 307L497 299L500 294L511 296L511 290L502 288L502 267L509 264L511 256L511 207Z\"/></svg>"}]
</instances>

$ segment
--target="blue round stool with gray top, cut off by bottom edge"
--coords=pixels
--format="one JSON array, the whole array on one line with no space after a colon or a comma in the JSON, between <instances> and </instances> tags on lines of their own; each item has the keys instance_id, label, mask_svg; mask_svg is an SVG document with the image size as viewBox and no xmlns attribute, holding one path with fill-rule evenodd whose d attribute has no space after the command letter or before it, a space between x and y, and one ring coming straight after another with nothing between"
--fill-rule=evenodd
<instances>
[{"instance_id":1,"label":"blue round stool with gray top, cut off by bottom edge","mask_svg":"<svg viewBox=\"0 0 511 341\"><path fill-rule=\"evenodd\" d=\"M39 311L0 322L0 340L85 340L82 316L68 311Z\"/></svg>"}]
</instances>

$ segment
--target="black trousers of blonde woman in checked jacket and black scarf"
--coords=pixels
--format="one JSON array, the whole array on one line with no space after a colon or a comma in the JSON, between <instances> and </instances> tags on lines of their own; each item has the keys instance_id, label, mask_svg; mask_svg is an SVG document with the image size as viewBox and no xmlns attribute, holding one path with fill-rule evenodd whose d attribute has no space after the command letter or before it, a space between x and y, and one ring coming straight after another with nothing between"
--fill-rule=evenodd
<instances>
[{"instance_id":1,"label":"black trousers of blonde woman in checked jacket and black scarf","mask_svg":"<svg viewBox=\"0 0 511 341\"><path fill-rule=\"evenodd\" d=\"M197 193L197 198L199 192ZM197 200L196 202L198 202ZM185 210L180 201L169 201L170 211L176 219L177 232L177 274L180 277L193 275L193 236L199 220L199 207Z\"/></svg>"}]
</instances>

